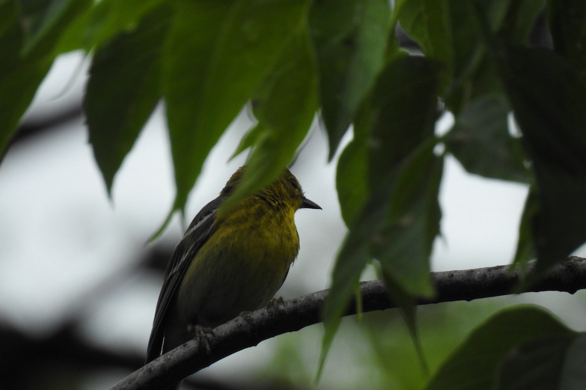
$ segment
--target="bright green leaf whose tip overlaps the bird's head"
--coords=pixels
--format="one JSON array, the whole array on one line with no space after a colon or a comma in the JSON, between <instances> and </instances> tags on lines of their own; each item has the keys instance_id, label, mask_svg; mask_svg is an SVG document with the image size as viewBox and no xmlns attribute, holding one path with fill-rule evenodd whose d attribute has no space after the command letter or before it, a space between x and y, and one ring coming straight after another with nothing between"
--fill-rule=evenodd
<instances>
[{"instance_id":1,"label":"bright green leaf whose tip overlaps the bird's head","mask_svg":"<svg viewBox=\"0 0 586 390\"><path fill-rule=\"evenodd\" d=\"M317 109L314 64L309 37L301 31L289 40L267 80L254 94L258 125L242 181L220 210L270 184L295 157ZM220 211L219 210L219 211Z\"/></svg>"}]
</instances>

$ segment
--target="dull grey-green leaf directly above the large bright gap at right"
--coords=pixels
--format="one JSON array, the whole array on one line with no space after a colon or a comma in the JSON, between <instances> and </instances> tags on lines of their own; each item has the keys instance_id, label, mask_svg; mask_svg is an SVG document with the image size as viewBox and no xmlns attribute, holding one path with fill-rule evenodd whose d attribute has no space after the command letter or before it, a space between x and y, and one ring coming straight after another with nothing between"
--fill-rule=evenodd
<instances>
[{"instance_id":1,"label":"dull grey-green leaf directly above the large bright gap at right","mask_svg":"<svg viewBox=\"0 0 586 390\"><path fill-rule=\"evenodd\" d=\"M508 115L505 96L484 94L456 117L445 144L472 174L526 183L523 150L520 140L509 134Z\"/></svg>"}]
</instances>

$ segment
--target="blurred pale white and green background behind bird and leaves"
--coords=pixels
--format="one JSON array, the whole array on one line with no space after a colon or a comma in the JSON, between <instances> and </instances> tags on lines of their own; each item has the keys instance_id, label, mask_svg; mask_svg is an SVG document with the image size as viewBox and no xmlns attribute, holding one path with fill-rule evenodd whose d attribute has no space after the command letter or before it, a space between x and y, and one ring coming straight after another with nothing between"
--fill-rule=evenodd
<instances>
[{"instance_id":1,"label":"blurred pale white and green background behind bird and leaves","mask_svg":"<svg viewBox=\"0 0 586 390\"><path fill-rule=\"evenodd\" d=\"M81 53L59 58L0 165L0 389L104 389L141 367L163 271L183 233L175 216L158 240L147 243L174 196L163 106L142 130L108 198L84 126L86 69ZM444 116L438 132L451 123ZM243 164L244 155L227 160L250 125L243 111L210 154L190 196L187 223ZM328 288L346 233L336 160L327 162L318 122L311 134L291 170L323 210L297 213L301 251L277 293L284 299ZM509 264L526 194L523 185L466 174L448 158L433 270ZM373 278L372 271L363 275ZM519 303L544 306L574 330L586 330L585 310L575 310L586 305L584 292L424 306L419 328L431 371L483 319ZM322 326L315 325L263 341L184 386L417 389L427 380L397 310L343 320L316 382L321 336Z\"/></svg>"}]
</instances>

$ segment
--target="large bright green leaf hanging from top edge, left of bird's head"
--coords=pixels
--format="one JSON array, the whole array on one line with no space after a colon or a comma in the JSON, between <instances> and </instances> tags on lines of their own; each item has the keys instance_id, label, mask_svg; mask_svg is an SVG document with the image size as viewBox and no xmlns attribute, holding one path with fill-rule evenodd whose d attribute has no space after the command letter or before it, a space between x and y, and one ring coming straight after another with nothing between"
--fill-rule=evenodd
<instances>
[{"instance_id":1,"label":"large bright green leaf hanging from top edge, left of bird's head","mask_svg":"<svg viewBox=\"0 0 586 390\"><path fill-rule=\"evenodd\" d=\"M163 91L183 209L203 162L304 21L297 0L176 1Z\"/></svg>"}]
</instances>

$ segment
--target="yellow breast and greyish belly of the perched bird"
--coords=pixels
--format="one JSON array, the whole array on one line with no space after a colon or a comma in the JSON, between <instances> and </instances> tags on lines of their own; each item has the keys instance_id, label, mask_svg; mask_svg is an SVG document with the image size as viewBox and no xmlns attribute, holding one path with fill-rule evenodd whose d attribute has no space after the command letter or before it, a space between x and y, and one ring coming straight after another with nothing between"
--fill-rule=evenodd
<instances>
[{"instance_id":1,"label":"yellow breast and greyish belly of the perched bird","mask_svg":"<svg viewBox=\"0 0 586 390\"><path fill-rule=\"evenodd\" d=\"M270 301L299 251L294 213L255 200L216 217L179 288L188 322L217 326Z\"/></svg>"}]
</instances>

